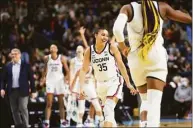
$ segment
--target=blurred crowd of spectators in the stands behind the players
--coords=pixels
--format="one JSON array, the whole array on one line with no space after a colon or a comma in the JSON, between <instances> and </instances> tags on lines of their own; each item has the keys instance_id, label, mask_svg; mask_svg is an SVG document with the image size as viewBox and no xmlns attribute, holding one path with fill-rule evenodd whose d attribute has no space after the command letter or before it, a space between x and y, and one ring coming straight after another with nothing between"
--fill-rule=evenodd
<instances>
[{"instance_id":1,"label":"blurred crowd of spectators in the stands behind the players","mask_svg":"<svg viewBox=\"0 0 193 128\"><path fill-rule=\"evenodd\" d=\"M191 0L166 2L175 9L192 14ZM70 60L75 56L76 47L83 45L79 28L86 28L89 45L94 41L93 31L99 26L109 30L112 37L114 21L120 7L126 3L129 0L1 0L0 63L5 65L10 61L10 50L18 47L22 58L32 65L39 96L44 96L40 78L43 56L49 54L50 44L57 44L59 52ZM163 37L168 52L169 74L162 115L176 113L173 110L175 105L185 106L187 112L191 108L191 91L187 90L192 87L192 26L168 20L163 27ZM129 97L127 89L124 92L123 103L137 107L137 98ZM184 113L184 110L179 111Z\"/></svg>"}]
</instances>

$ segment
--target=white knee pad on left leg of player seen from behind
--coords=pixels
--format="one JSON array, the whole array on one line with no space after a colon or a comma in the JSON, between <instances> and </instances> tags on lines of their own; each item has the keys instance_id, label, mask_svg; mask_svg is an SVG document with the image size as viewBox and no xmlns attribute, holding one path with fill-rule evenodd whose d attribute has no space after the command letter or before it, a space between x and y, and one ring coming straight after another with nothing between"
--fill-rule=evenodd
<instances>
[{"instance_id":1,"label":"white knee pad on left leg of player seen from behind","mask_svg":"<svg viewBox=\"0 0 193 128\"><path fill-rule=\"evenodd\" d=\"M141 97L140 113L143 111L148 111L147 93L140 93L139 95Z\"/></svg>"}]
</instances>

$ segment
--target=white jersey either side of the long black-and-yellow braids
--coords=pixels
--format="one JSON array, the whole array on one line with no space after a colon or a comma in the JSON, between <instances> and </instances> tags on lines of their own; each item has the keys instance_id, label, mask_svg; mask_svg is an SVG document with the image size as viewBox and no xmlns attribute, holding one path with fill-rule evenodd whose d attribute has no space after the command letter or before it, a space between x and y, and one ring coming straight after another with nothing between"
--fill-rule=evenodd
<instances>
[{"instance_id":1,"label":"white jersey either side of the long black-and-yellow braids","mask_svg":"<svg viewBox=\"0 0 193 128\"><path fill-rule=\"evenodd\" d=\"M156 1L154 1L153 3L158 10L158 3ZM144 27L143 27L143 16L141 13L141 4L137 2L131 2L131 6L133 9L133 19L127 23L127 32L128 32L128 40L129 40L129 44L132 52L132 51L135 51L141 45L141 40L143 38L143 33L144 33ZM162 26L163 26L163 20L160 17L160 30L158 32L157 39L154 43L155 45L163 45L164 43L164 40L162 37Z\"/></svg>"}]
</instances>

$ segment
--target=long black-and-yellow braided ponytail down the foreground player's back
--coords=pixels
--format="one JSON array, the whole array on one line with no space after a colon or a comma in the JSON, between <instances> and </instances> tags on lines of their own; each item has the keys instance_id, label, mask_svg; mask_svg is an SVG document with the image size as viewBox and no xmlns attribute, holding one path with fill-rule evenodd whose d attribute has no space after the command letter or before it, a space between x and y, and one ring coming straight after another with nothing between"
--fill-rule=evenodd
<instances>
[{"instance_id":1,"label":"long black-and-yellow braided ponytail down the foreground player's back","mask_svg":"<svg viewBox=\"0 0 193 128\"><path fill-rule=\"evenodd\" d=\"M141 0L141 2L144 34L141 45L142 48L139 51L139 56L141 59L145 60L147 58L148 52L151 50L152 45L157 38L158 31L160 29L160 19L153 1Z\"/></svg>"}]
</instances>

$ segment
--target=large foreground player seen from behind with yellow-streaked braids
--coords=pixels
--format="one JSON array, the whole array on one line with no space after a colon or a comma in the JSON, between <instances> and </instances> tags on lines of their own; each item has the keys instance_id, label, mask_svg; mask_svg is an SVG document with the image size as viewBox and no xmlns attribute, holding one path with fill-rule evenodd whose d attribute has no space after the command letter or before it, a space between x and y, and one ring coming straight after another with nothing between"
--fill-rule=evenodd
<instances>
[{"instance_id":1,"label":"large foreground player seen from behind with yellow-streaked braids","mask_svg":"<svg viewBox=\"0 0 193 128\"><path fill-rule=\"evenodd\" d=\"M131 76L142 100L140 126L159 127L160 104L166 84L167 52L163 47L163 21L171 19L191 23L190 15L172 9L167 3L141 0L124 5L113 33L119 48L128 58ZM127 23L130 48L124 43L123 30Z\"/></svg>"}]
</instances>

